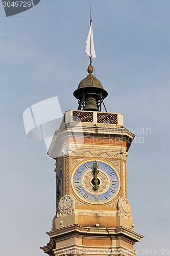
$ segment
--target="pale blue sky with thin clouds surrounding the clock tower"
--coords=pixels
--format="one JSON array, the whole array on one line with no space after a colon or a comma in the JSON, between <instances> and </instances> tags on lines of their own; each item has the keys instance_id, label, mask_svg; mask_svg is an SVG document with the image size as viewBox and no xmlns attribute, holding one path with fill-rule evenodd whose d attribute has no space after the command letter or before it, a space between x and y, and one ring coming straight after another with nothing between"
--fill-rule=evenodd
<instances>
[{"instance_id":1,"label":"pale blue sky with thin clouds surrounding the clock tower","mask_svg":"<svg viewBox=\"0 0 170 256\"><path fill-rule=\"evenodd\" d=\"M55 215L55 161L37 159L47 159L45 144L26 137L22 113L54 96L63 113L77 109L72 92L87 75L90 4L92 64L108 91L107 110L122 113L130 129L151 129L136 133L144 143L134 142L127 158L135 231L145 236L135 249L169 248L170 2L41 0L8 18L0 6L3 256L45 255L39 247Z\"/></svg>"}]
</instances>

